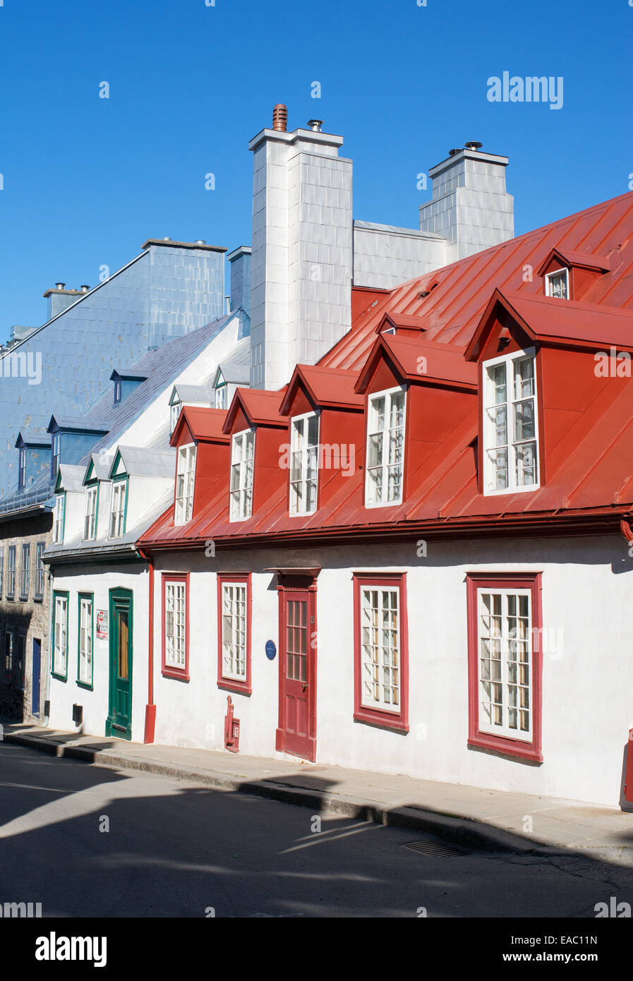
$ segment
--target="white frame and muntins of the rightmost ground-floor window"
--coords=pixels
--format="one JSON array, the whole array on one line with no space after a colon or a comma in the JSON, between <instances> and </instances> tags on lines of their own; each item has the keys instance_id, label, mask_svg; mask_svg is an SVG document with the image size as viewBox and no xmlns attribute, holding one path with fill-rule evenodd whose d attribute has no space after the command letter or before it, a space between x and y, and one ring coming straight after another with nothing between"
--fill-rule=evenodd
<instances>
[{"instance_id":1,"label":"white frame and muntins of the rightmost ground-floor window","mask_svg":"<svg viewBox=\"0 0 633 981\"><path fill-rule=\"evenodd\" d=\"M494 613L491 613L490 620L499 619L501 624L499 625L499 630L493 626L491 622L488 628L486 628L486 620L488 619L486 610L484 607L484 596L485 595L501 595L501 616L497 617ZM508 596L517 597L517 605L515 607L515 616L510 617L508 615ZM519 617L519 606L518 597L527 596L528 600L528 615L527 618ZM477 699L479 704L479 729L481 732L489 733L492 736L502 736L506 739L516 739L521 740L525 743L531 743L534 738L534 713L536 710L536 705L534 703L534 631L533 631L533 610L532 610L532 592L526 589L512 589L512 588L498 588L498 587L478 587L477 588ZM508 625L510 619L516 619L518 621L523 621L527 619L527 627L525 628L524 635L521 630L514 628L514 635L512 635L512 630ZM482 656L484 654L484 642L488 641L490 643L490 651L492 653L499 653L501 656L499 658L488 658L487 656ZM521 645L525 644L528 648L528 660L520 660L520 651L516 651L516 661L509 660L510 644ZM484 662L489 660L490 665L487 670L484 667ZM494 661L499 661L499 668L495 670L493 664ZM510 666L514 664L516 668L516 673L514 678L512 678L512 672ZM520 667L523 664L527 664L527 683L521 680ZM483 675L490 674L491 678L483 677ZM492 677L494 674L499 674L501 677ZM486 685L490 686L490 690L487 691ZM494 686L499 686L500 691L495 691ZM512 706L510 704L511 696L510 689L516 690L517 704ZM528 705L521 706L519 704L520 690L527 689L528 691ZM493 708L493 699L496 699L501 694L501 724L497 725L493 721L489 721L487 716L486 705L491 704L491 713ZM518 727L513 728L509 725L509 714L511 711L515 710L517 713L517 723L520 722L520 712L521 710L527 710L529 714L529 729L524 730Z\"/></svg>"}]
</instances>

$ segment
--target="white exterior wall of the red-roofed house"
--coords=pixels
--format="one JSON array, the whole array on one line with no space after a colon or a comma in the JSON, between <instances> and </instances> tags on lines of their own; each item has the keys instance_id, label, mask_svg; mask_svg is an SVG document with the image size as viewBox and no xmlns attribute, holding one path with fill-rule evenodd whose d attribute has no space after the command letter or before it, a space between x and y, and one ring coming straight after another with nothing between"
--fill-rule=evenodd
<instances>
[{"instance_id":1,"label":"white exterior wall of the red-roofed house","mask_svg":"<svg viewBox=\"0 0 633 981\"><path fill-rule=\"evenodd\" d=\"M317 580L316 761L504 791L615 804L633 724L633 560L618 536L524 542L430 542L162 555L155 597L156 742L224 748L227 693L217 687L215 572L252 568L252 695L231 693L241 752L276 756L279 637L275 566L322 565ZM326 568L330 566L330 568ZM333 568L334 566L334 568ZM192 571L189 673L161 676L161 569ZM406 735L353 721L352 572L407 573L409 726ZM466 572L542 572L543 755L535 764L467 747ZM278 654L266 658L275 641ZM559 643L560 642L560 643ZM298 757L287 757L297 760Z\"/></svg>"}]
</instances>

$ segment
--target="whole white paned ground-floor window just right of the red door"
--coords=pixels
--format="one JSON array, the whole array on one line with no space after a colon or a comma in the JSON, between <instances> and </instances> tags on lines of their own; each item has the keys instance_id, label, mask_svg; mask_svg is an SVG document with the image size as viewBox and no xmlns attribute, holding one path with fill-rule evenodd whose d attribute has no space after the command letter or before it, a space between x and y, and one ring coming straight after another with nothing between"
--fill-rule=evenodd
<instances>
[{"instance_id":1,"label":"whole white paned ground-floor window just right of the red door","mask_svg":"<svg viewBox=\"0 0 633 981\"><path fill-rule=\"evenodd\" d=\"M361 703L394 712L400 710L398 599L391 587L361 587Z\"/></svg>"}]
</instances>

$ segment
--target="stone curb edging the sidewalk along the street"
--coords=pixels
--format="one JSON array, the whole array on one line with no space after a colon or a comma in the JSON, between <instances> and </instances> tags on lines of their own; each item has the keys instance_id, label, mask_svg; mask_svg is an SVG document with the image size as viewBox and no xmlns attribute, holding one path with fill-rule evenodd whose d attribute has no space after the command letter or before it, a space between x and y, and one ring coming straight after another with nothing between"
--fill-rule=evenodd
<instances>
[{"instance_id":1,"label":"stone curb edging the sidewalk along the street","mask_svg":"<svg viewBox=\"0 0 633 981\"><path fill-rule=\"evenodd\" d=\"M547 846L543 842L524 839L509 831L502 831L501 828L485 825L458 814L443 814L416 806L388 807L350 796L333 796L321 791L294 787L290 784L285 785L282 780L240 780L235 776L227 776L211 770L159 763L156 760L143 759L138 756L119 756L84 746L56 743L53 740L37 736L5 733L4 742L13 743L26 749L47 752L60 758L79 759L82 762L106 769L154 773L176 780L189 780L207 787L239 791L242 794L252 794L267 800L278 800L281 803L291 803L300 807L311 807L314 810L343 814L345 817L360 821L371 821L388 827L425 832L458 848L472 849L473 851L511 852L523 855L567 853L562 849Z\"/></svg>"}]
</instances>

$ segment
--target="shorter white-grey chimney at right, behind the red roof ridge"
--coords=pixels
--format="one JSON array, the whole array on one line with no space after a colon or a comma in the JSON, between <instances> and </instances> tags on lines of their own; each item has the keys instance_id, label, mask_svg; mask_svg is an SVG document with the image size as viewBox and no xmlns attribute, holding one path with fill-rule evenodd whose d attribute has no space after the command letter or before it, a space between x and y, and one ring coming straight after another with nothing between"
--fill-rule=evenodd
<instances>
[{"instance_id":1,"label":"shorter white-grey chimney at right, behind the red roof ridge","mask_svg":"<svg viewBox=\"0 0 633 981\"><path fill-rule=\"evenodd\" d=\"M420 208L420 229L448 241L447 262L514 236L514 199L505 190L507 157L482 153L481 143L450 150L432 167L433 197Z\"/></svg>"}]
</instances>

